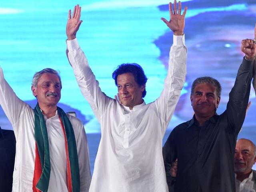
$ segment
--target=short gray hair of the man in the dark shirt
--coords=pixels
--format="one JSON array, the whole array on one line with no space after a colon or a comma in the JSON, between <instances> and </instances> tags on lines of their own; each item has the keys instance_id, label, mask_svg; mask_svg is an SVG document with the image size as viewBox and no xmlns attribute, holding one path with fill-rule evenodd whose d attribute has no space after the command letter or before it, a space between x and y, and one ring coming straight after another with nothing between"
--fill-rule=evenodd
<instances>
[{"instance_id":1,"label":"short gray hair of the man in the dark shirt","mask_svg":"<svg viewBox=\"0 0 256 192\"><path fill-rule=\"evenodd\" d=\"M196 80L194 80L194 82L192 83L192 87L191 87L191 95L194 93L194 89L198 84L203 84L203 83L208 83L208 84L212 84L214 87L216 87L216 94L217 97L220 98L220 94L221 94L221 85L220 82L218 82L218 80L212 78L212 77L199 77L196 78Z\"/></svg>"}]
</instances>

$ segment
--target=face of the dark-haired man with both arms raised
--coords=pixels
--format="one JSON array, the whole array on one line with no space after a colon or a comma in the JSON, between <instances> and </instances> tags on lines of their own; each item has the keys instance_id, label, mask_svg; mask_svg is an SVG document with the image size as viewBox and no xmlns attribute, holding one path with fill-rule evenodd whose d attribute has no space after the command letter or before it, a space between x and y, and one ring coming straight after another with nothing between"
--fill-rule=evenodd
<instances>
[{"instance_id":1,"label":"face of the dark-haired man with both arms raised","mask_svg":"<svg viewBox=\"0 0 256 192\"><path fill-rule=\"evenodd\" d=\"M145 85L139 86L131 73L118 75L117 87L120 101L124 106L132 109L142 104L142 92L145 90Z\"/></svg>"}]
</instances>

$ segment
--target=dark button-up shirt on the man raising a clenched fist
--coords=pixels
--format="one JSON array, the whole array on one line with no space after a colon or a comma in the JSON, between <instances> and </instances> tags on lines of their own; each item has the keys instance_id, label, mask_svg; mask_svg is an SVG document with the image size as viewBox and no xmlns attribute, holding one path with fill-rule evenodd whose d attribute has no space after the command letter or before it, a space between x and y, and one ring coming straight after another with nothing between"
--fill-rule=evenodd
<instances>
[{"instance_id":1,"label":"dark button-up shirt on the man raising a clenched fist","mask_svg":"<svg viewBox=\"0 0 256 192\"><path fill-rule=\"evenodd\" d=\"M167 182L178 158L175 192L235 192L234 151L250 94L253 62L243 60L226 110L203 126L195 116L172 130L164 144Z\"/></svg>"}]
</instances>

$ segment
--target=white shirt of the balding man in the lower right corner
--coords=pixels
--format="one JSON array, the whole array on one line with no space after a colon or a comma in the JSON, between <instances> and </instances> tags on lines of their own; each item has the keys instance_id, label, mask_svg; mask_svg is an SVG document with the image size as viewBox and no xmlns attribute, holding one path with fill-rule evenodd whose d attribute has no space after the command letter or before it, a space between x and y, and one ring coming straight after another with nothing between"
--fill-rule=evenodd
<instances>
[{"instance_id":1,"label":"white shirt of the balding man in the lower right corner","mask_svg":"<svg viewBox=\"0 0 256 192\"><path fill-rule=\"evenodd\" d=\"M236 179L236 192L256 192L255 183L252 180L252 174L253 173L251 172L250 176L244 179L242 182Z\"/></svg>"}]
</instances>

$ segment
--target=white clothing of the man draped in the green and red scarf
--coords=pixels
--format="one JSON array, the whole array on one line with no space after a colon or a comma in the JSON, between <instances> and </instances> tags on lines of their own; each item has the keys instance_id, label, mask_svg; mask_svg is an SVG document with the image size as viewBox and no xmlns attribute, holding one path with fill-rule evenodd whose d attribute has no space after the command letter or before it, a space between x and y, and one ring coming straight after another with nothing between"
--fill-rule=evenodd
<instances>
[{"instance_id":1,"label":"white clothing of the man draped in the green and red scarf","mask_svg":"<svg viewBox=\"0 0 256 192\"><path fill-rule=\"evenodd\" d=\"M16 137L16 156L13 173L13 192L32 192L35 165L34 110L20 100L4 79L0 68L0 104L10 120ZM68 114L67 114L68 115ZM48 192L68 192L66 181L66 150L64 134L56 116L46 120L50 148L50 182ZM88 192L91 174L88 143L80 120L68 115L73 126L80 169L80 191Z\"/></svg>"}]
</instances>

